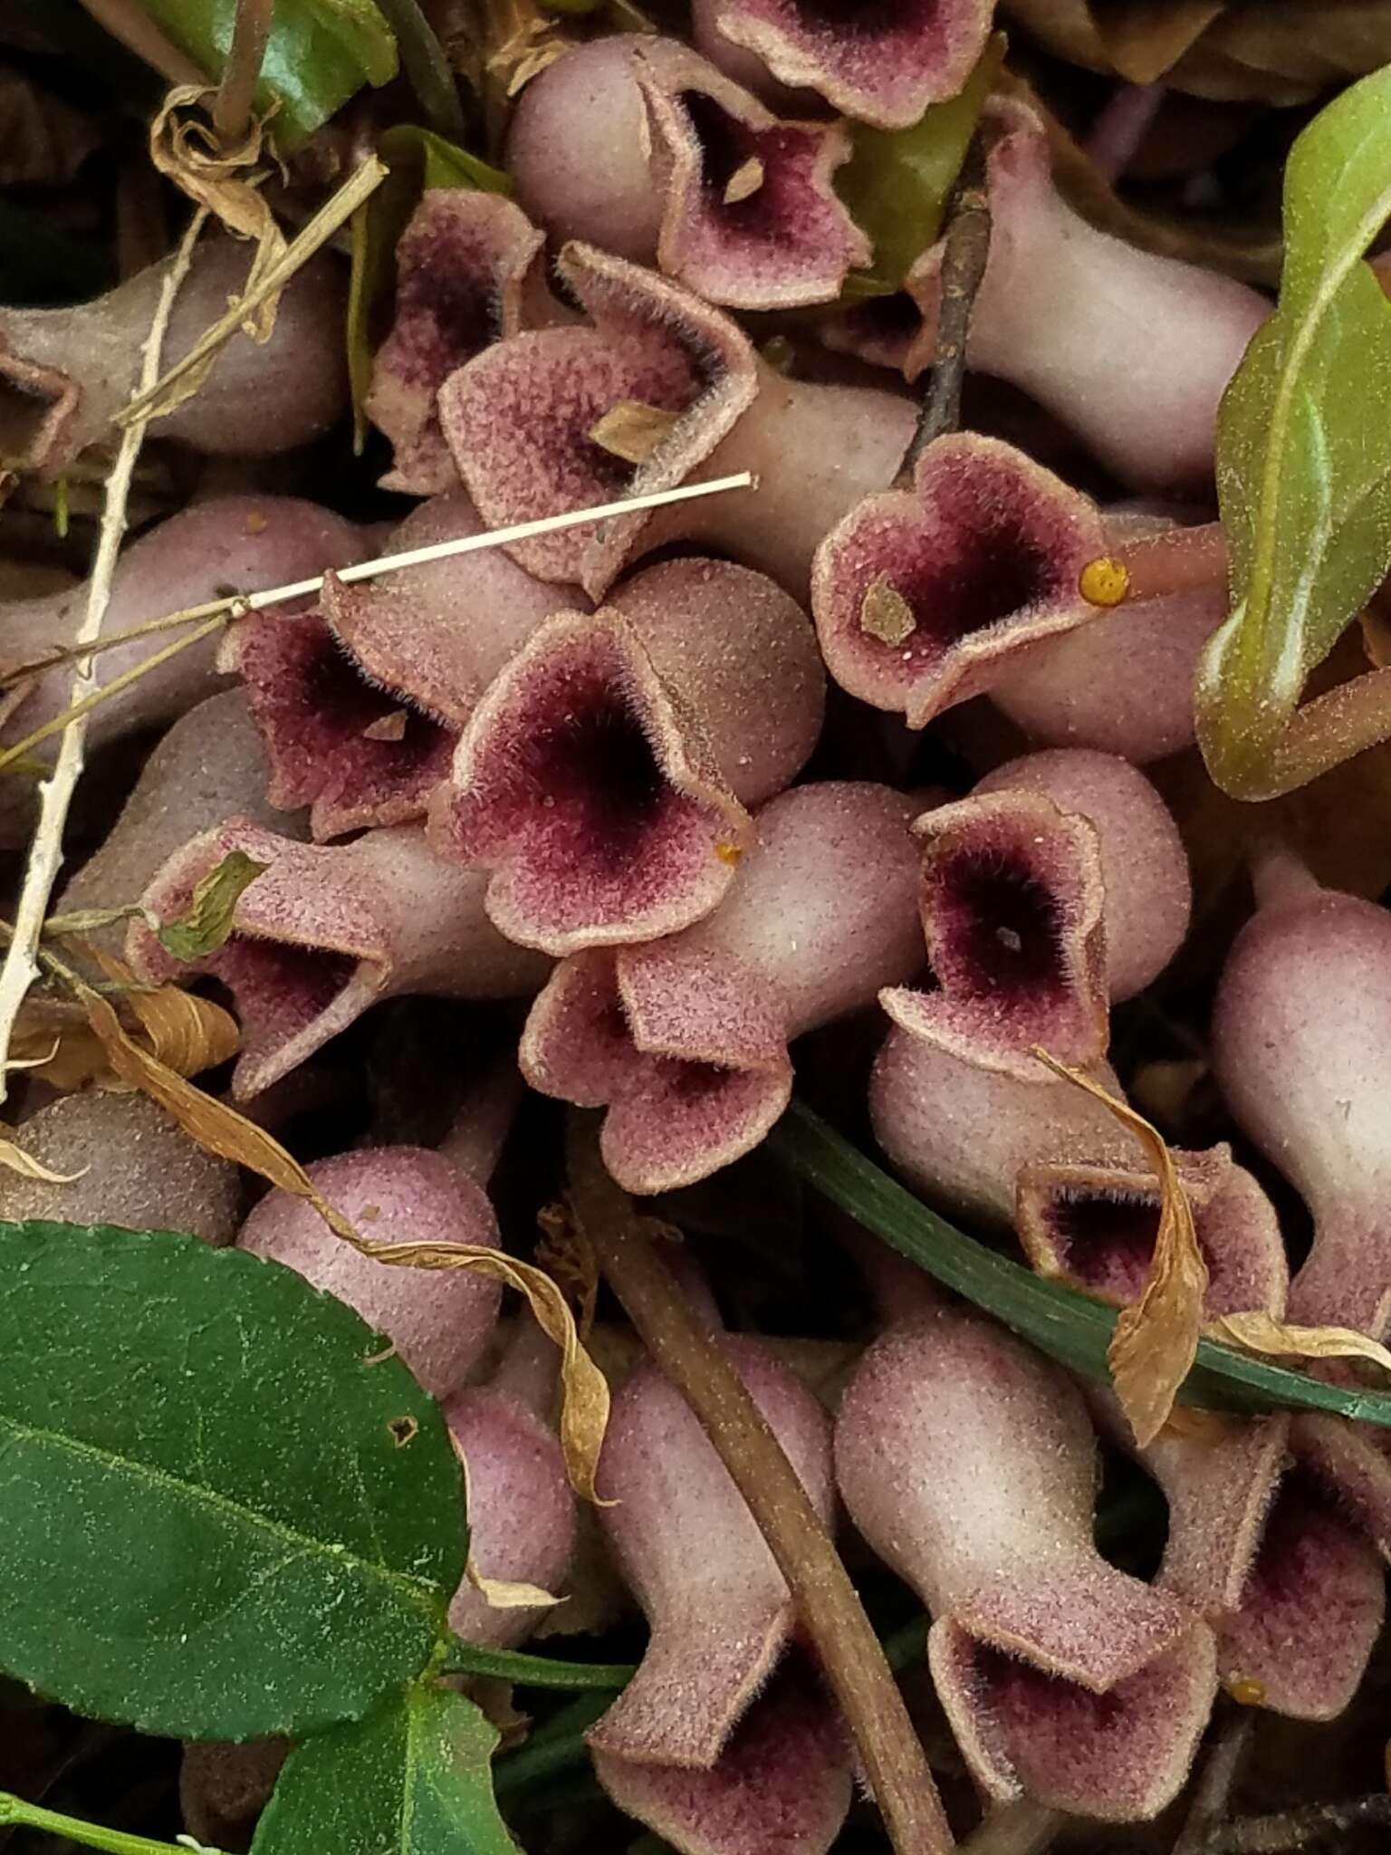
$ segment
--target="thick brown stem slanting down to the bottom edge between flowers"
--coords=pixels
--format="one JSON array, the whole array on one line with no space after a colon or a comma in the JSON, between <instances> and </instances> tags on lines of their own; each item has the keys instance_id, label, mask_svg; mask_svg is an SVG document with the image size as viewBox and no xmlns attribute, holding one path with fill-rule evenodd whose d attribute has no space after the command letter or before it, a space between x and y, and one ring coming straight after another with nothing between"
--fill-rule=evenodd
<instances>
[{"instance_id":1,"label":"thick brown stem slanting down to the bottom edge between flowers","mask_svg":"<svg viewBox=\"0 0 1391 1855\"><path fill-rule=\"evenodd\" d=\"M955 1844L937 1785L855 1586L742 1378L692 1311L632 1200L605 1171L590 1115L571 1117L568 1174L599 1269L699 1419L788 1582L894 1849L944 1855Z\"/></svg>"}]
</instances>

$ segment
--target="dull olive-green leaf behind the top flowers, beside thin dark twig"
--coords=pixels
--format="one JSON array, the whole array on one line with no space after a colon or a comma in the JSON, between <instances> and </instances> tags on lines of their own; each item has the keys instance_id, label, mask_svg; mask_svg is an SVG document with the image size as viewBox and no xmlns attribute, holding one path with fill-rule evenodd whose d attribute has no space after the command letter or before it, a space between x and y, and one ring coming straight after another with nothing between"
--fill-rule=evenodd
<instances>
[{"instance_id":1,"label":"dull olive-green leaf behind the top flowers, beside thin dark twig","mask_svg":"<svg viewBox=\"0 0 1391 1855\"><path fill-rule=\"evenodd\" d=\"M835 189L874 245L868 271L851 271L842 297L887 297L903 288L916 260L942 230L966 147L1005 56L1003 33L987 45L961 95L931 104L912 128L851 122L855 154Z\"/></svg>"}]
</instances>

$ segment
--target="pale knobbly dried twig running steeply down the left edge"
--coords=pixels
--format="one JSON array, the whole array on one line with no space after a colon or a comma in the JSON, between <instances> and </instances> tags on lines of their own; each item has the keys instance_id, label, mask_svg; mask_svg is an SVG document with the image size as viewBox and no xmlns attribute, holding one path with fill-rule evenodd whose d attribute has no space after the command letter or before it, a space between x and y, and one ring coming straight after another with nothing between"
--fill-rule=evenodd
<instances>
[{"instance_id":1,"label":"pale knobbly dried twig running steeply down the left edge","mask_svg":"<svg viewBox=\"0 0 1391 1855\"><path fill-rule=\"evenodd\" d=\"M180 286L184 284L189 265L193 263L193 247L198 241L198 234L202 232L206 219L206 211L197 211L193 215L189 228L174 252L174 260L165 273L163 284L160 286L160 301L156 302L150 332L145 339L139 380L141 391L148 390L148 386L160 377L160 351L163 349L165 334L169 330L169 317L174 312L174 301ZM145 441L145 425L147 421L143 417L132 419L132 423L126 425L121 434L121 445L117 447L111 475L106 480L102 532L96 542L96 562L93 566L93 577L87 590L87 610L78 631L78 646L95 644L102 633L102 620L106 618L106 607L111 599L111 579L115 575L117 555L121 553L121 542L126 534L126 501L130 497L132 477L135 475L135 460L139 458L141 443ZM91 694L95 681L96 673L91 666L91 659L80 659L72 677L74 703ZM48 913L48 900L63 864L63 825L67 824L72 792L82 777L85 736L87 720L85 714L80 714L63 729L63 740L57 749L54 772L39 785L39 825L33 833L30 861L24 870L24 887L20 889L19 907L15 911L15 937L6 948L4 966L0 966L0 1102L4 1102L7 1094L6 1078L9 1067L9 1039L15 1033L15 1020L19 1018L19 1009L24 1004L30 987L39 978L37 952L39 939L43 935L43 918Z\"/></svg>"}]
</instances>

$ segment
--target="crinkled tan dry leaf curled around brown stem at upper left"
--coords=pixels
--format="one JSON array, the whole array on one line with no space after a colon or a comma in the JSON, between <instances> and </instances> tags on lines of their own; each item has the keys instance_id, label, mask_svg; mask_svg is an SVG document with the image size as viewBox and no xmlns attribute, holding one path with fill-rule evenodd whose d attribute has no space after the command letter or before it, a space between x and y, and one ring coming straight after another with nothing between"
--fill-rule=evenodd
<instances>
[{"instance_id":1,"label":"crinkled tan dry leaf curled around brown stem at upper left","mask_svg":"<svg viewBox=\"0 0 1391 1855\"><path fill-rule=\"evenodd\" d=\"M150 160L161 174L167 174L197 206L204 206L228 232L256 245L256 256L245 282L245 291L250 293L265 273L284 258L286 236L260 191L267 174L267 169L258 167L263 124L252 117L243 139L226 148L208 121L185 113L202 104L211 106L215 96L215 89L176 83L150 124ZM243 321L241 326L252 341L271 339L276 301L273 295L258 302ZM211 367L211 360L198 373L184 377L184 399L197 393L208 367ZM176 401L169 401L161 412L172 410L174 404Z\"/></svg>"}]
</instances>

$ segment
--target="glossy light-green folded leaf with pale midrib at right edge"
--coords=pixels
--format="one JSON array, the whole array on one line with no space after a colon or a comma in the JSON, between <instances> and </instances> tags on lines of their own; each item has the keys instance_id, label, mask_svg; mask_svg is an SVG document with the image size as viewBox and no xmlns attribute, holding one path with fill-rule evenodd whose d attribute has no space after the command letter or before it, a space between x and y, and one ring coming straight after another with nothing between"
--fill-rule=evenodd
<instances>
[{"instance_id":1,"label":"glossy light-green folded leaf with pale midrib at right edge","mask_svg":"<svg viewBox=\"0 0 1391 1855\"><path fill-rule=\"evenodd\" d=\"M1198 675L1220 787L1265 798L1304 679L1391 564L1391 302L1361 262L1391 217L1391 67L1332 102L1285 169L1280 308L1222 399L1233 610Z\"/></svg>"}]
</instances>

